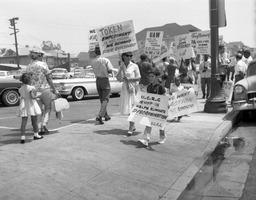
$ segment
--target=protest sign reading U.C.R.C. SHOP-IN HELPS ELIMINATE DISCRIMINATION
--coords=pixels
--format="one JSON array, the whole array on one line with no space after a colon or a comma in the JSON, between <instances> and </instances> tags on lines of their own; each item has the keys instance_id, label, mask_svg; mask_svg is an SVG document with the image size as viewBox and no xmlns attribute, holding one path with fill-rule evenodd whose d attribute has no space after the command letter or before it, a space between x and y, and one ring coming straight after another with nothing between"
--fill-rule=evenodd
<instances>
[{"instance_id":1,"label":"protest sign reading U.C.R.C. SHOP-IN HELPS ELIMINATE DISCRIMINATION","mask_svg":"<svg viewBox=\"0 0 256 200\"><path fill-rule=\"evenodd\" d=\"M168 96L137 92L128 121L164 130L168 117Z\"/></svg>"}]
</instances>

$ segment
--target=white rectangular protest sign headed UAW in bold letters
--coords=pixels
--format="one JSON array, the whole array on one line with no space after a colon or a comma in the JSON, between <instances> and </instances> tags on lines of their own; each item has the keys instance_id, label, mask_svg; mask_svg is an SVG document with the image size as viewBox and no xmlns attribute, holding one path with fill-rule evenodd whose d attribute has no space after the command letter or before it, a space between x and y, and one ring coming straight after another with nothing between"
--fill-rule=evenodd
<instances>
[{"instance_id":1,"label":"white rectangular protest sign headed UAW in bold letters","mask_svg":"<svg viewBox=\"0 0 256 200\"><path fill-rule=\"evenodd\" d=\"M160 56L162 40L163 40L163 31L147 31L146 43L145 43L145 54Z\"/></svg>"}]
</instances>

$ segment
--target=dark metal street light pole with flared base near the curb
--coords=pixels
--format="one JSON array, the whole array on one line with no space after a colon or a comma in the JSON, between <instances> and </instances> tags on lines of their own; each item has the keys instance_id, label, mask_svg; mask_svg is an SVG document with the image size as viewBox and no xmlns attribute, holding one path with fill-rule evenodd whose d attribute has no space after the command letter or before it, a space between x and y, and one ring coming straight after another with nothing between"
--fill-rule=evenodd
<instances>
[{"instance_id":1,"label":"dark metal street light pole with flared base near the curb","mask_svg":"<svg viewBox=\"0 0 256 200\"><path fill-rule=\"evenodd\" d=\"M219 74L219 14L218 0L209 0L210 8L210 50L211 50L211 84L210 97L206 99L204 112L227 113L225 98L221 96Z\"/></svg>"}]
</instances>

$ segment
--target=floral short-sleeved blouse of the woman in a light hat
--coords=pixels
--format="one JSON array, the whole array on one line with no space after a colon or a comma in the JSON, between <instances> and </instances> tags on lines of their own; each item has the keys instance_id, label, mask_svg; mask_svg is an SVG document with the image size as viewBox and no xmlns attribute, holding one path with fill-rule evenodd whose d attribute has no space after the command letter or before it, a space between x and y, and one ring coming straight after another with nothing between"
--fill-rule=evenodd
<instances>
[{"instance_id":1,"label":"floral short-sleeved blouse of the woman in a light hat","mask_svg":"<svg viewBox=\"0 0 256 200\"><path fill-rule=\"evenodd\" d=\"M31 73L31 85L38 90L44 90L50 88L46 80L46 75L50 73L47 63L38 60L33 60L27 66L27 73Z\"/></svg>"}]
</instances>

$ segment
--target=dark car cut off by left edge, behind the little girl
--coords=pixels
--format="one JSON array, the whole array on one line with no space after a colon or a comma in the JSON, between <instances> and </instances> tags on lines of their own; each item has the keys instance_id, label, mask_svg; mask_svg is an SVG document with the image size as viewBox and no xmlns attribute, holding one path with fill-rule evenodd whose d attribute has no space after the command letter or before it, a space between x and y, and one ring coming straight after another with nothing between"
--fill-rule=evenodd
<instances>
[{"instance_id":1,"label":"dark car cut off by left edge, behind the little girl","mask_svg":"<svg viewBox=\"0 0 256 200\"><path fill-rule=\"evenodd\" d=\"M17 106L19 104L18 88L22 82L15 79L0 79L0 102L6 106Z\"/></svg>"}]
</instances>

